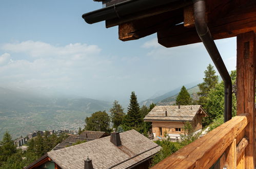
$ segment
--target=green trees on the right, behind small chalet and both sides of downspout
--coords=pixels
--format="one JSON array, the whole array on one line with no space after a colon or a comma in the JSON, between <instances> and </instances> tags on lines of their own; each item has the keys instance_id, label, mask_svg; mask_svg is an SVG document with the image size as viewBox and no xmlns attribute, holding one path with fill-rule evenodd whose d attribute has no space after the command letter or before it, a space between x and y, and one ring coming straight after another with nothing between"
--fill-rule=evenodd
<instances>
[{"instance_id":1,"label":"green trees on the right, behind small chalet and both sides of downspout","mask_svg":"<svg viewBox=\"0 0 256 169\"><path fill-rule=\"evenodd\" d=\"M232 93L232 116L236 115L237 112L237 98L235 95L237 71L231 71L230 74L233 93ZM180 105L191 105L199 104L202 105L203 109L208 114L204 118L204 126L211 123L218 123L220 125L224 121L224 82L219 82L218 76L212 65L208 65L204 71L203 82L198 84L199 92L197 95L199 99L192 99L187 89L183 86L180 93L176 97L176 104ZM213 124L214 125L214 124ZM216 125L216 126L218 126Z\"/></svg>"}]
</instances>

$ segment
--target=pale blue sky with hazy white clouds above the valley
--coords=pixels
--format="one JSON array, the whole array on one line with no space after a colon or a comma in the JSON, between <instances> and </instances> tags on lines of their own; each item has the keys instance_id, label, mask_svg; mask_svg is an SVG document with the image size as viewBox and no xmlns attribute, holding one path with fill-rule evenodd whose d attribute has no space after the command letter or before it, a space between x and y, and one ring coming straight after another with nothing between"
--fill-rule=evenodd
<instances>
[{"instance_id":1,"label":"pale blue sky with hazy white clouds above the valley","mask_svg":"<svg viewBox=\"0 0 256 169\"><path fill-rule=\"evenodd\" d=\"M118 28L89 25L88 0L1 0L0 87L46 89L93 99L139 100L200 82L212 61L202 43L165 48L156 34L123 42ZM236 38L215 40L228 71Z\"/></svg>"}]
</instances>

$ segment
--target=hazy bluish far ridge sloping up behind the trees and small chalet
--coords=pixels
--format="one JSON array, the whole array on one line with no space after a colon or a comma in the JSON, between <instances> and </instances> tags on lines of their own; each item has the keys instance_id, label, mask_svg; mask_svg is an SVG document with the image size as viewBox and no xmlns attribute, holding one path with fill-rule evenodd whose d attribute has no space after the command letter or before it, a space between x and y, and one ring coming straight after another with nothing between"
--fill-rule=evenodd
<instances>
[{"instance_id":1,"label":"hazy bluish far ridge sloping up behind the trees and small chalet","mask_svg":"<svg viewBox=\"0 0 256 169\"><path fill-rule=\"evenodd\" d=\"M189 83L189 84L184 85L184 86L187 89L189 89L191 87L196 86L198 83L200 83L200 82L193 82L193 83ZM158 96L158 97L155 97L155 98L150 98L150 99L147 99L147 100L143 100L143 101L140 102L140 105L147 105L147 106L149 106L151 103L157 103L157 102L159 102L161 100L164 100L166 98L172 97L172 96L178 94L181 91L181 88L182 88L182 86L179 87L179 88L176 88L176 89L174 89L172 91L169 91L169 92L167 92L167 93L165 93L165 94L163 94L161 96Z\"/></svg>"}]
</instances>

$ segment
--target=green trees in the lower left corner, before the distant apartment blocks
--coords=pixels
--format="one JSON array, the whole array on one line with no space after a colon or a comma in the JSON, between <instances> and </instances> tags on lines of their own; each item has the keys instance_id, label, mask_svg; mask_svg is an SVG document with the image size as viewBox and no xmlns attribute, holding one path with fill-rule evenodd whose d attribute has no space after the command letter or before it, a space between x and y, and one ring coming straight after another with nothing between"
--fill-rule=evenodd
<instances>
[{"instance_id":1,"label":"green trees in the lower left corner, before the distant apartment blocks","mask_svg":"<svg viewBox=\"0 0 256 169\"><path fill-rule=\"evenodd\" d=\"M50 135L48 131L43 136L37 133L36 137L28 140L27 151L22 151L21 149L16 149L11 135L6 132L3 140L0 141L0 168L23 168L51 151L53 147L67 137L67 134L61 134L60 136L56 134Z\"/></svg>"}]
</instances>

